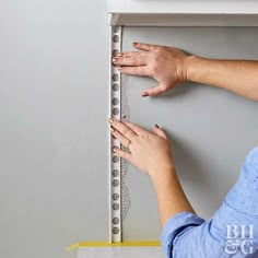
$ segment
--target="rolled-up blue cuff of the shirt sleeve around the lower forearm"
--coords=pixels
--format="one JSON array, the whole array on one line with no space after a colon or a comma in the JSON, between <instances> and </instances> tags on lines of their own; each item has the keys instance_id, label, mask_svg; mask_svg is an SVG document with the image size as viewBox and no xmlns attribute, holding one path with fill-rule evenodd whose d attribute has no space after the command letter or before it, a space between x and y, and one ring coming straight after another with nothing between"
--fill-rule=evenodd
<instances>
[{"instance_id":1,"label":"rolled-up blue cuff of the shirt sleeve around the lower forearm","mask_svg":"<svg viewBox=\"0 0 258 258\"><path fill-rule=\"evenodd\" d=\"M160 241L162 248L167 258L172 257L173 242L175 237L190 226L201 225L204 222L203 219L197 216L191 212L180 212L173 215L165 223Z\"/></svg>"}]
</instances>

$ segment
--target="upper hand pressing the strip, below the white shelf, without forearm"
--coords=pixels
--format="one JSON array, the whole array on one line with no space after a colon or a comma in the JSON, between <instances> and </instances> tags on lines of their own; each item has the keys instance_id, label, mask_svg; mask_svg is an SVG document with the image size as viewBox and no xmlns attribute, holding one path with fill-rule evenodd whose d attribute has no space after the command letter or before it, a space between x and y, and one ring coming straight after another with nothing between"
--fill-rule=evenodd
<instances>
[{"instance_id":1,"label":"upper hand pressing the strip, below the white shelf, without forearm","mask_svg":"<svg viewBox=\"0 0 258 258\"><path fill-rule=\"evenodd\" d=\"M133 43L133 47L140 51L121 52L113 62L122 73L151 77L160 83L145 90L142 96L160 95L187 80L189 56L184 51L141 43Z\"/></svg>"}]
</instances>

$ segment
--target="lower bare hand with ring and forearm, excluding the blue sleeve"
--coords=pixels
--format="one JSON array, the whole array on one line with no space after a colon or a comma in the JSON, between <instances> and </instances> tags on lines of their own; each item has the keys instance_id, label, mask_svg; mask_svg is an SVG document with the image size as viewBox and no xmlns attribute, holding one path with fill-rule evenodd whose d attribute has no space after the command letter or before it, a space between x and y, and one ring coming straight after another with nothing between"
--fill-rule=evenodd
<instances>
[{"instance_id":1,"label":"lower bare hand with ring and forearm, excluding the blue sleeve","mask_svg":"<svg viewBox=\"0 0 258 258\"><path fill-rule=\"evenodd\" d=\"M115 148L113 151L151 177L162 226L176 213L195 212L177 178L172 144L165 132L156 125L152 133L131 122L114 119L109 122L112 134L130 150Z\"/></svg>"}]
</instances>

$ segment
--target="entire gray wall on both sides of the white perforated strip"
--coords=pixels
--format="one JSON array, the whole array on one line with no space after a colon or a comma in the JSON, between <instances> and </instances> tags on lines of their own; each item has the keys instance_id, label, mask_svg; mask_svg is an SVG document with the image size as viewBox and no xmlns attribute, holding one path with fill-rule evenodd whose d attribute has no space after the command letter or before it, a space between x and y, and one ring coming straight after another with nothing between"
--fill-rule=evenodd
<instances>
[{"instance_id":1,"label":"entire gray wall on both sides of the white perforated strip","mask_svg":"<svg viewBox=\"0 0 258 258\"><path fill-rule=\"evenodd\" d=\"M0 0L0 257L74 257L69 245L108 239L107 1ZM142 40L207 57L258 58L257 39L257 28L131 27L124 49ZM183 185L210 216L258 143L257 103L192 84L143 99L154 82L125 80L131 120L168 131ZM150 179L129 166L127 186L125 239L156 239Z\"/></svg>"}]
</instances>

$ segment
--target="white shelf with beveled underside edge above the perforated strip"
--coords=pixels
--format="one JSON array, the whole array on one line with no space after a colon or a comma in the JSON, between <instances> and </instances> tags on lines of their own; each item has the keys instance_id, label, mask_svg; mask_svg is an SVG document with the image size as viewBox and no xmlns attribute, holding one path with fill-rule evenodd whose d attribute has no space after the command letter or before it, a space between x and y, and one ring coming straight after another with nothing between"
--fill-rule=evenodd
<instances>
[{"instance_id":1,"label":"white shelf with beveled underside edge above the perforated strip","mask_svg":"<svg viewBox=\"0 0 258 258\"><path fill-rule=\"evenodd\" d=\"M257 26L258 1L109 0L110 25Z\"/></svg>"}]
</instances>

